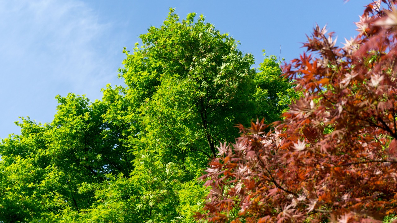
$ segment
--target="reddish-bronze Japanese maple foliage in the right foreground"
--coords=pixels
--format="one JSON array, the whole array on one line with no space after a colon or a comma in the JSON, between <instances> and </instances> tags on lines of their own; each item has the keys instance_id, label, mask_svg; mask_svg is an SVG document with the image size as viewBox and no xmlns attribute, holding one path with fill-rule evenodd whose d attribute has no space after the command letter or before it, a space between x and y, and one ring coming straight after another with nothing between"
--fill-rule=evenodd
<instances>
[{"instance_id":1,"label":"reddish-bronze Japanese maple foliage in the right foreground","mask_svg":"<svg viewBox=\"0 0 397 223\"><path fill-rule=\"evenodd\" d=\"M397 0L366 7L358 37L314 28L285 65L303 97L263 133L222 145L206 179L210 222L381 222L397 211ZM312 55L308 54L312 53Z\"/></svg>"}]
</instances>

